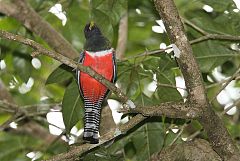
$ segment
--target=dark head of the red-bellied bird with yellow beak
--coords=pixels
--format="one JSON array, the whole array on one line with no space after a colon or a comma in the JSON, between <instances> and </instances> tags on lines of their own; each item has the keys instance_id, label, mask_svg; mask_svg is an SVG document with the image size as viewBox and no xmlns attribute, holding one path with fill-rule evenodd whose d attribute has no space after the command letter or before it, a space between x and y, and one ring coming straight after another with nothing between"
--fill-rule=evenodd
<instances>
[{"instance_id":1,"label":"dark head of the red-bellied bird with yellow beak","mask_svg":"<svg viewBox=\"0 0 240 161\"><path fill-rule=\"evenodd\" d=\"M101 36L102 33L98 26L92 21L85 26L84 35L86 39L89 39L92 36Z\"/></svg>"}]
</instances>

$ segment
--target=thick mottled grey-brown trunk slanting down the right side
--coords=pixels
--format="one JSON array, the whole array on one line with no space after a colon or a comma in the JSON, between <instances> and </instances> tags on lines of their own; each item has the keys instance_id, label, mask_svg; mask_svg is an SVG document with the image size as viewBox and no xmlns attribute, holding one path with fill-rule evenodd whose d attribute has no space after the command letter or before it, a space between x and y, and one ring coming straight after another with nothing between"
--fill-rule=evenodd
<instances>
[{"instance_id":1,"label":"thick mottled grey-brown trunk slanting down the right side","mask_svg":"<svg viewBox=\"0 0 240 161\"><path fill-rule=\"evenodd\" d=\"M198 108L203 110L199 121L207 132L213 149L224 160L238 160L240 158L239 150L234 145L222 120L215 114L208 103L201 72L193 56L191 45L186 37L173 0L154 0L154 2L165 24L171 43L175 44L181 51L177 61L189 93L188 102L195 103Z\"/></svg>"}]
</instances>

